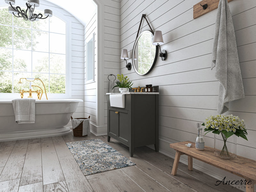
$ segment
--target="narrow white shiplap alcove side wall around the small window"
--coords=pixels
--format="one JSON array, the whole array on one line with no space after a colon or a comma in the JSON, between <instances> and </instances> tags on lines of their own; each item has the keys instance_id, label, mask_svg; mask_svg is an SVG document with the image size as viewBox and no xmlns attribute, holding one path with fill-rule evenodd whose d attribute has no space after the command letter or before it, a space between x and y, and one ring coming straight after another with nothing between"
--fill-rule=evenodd
<instances>
[{"instance_id":1,"label":"narrow white shiplap alcove side wall around the small window","mask_svg":"<svg viewBox=\"0 0 256 192\"><path fill-rule=\"evenodd\" d=\"M84 117L90 117L90 122L94 125L97 125L97 66L98 66L98 54L97 54L97 39L98 39L98 31L97 31L97 10L92 15L92 18L89 19L88 24L84 28ZM95 42L94 42L94 82L86 84L86 41L87 38L92 38L92 34L95 34Z\"/></svg>"}]
</instances>

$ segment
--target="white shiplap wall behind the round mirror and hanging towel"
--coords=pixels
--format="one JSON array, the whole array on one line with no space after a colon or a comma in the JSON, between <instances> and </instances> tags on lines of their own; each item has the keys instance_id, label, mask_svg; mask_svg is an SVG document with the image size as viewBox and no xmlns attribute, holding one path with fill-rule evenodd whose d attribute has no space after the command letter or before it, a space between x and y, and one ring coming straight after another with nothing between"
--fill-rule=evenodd
<instances>
[{"instance_id":1,"label":"white shiplap wall behind the round mirror and hanging towel","mask_svg":"<svg viewBox=\"0 0 256 192\"><path fill-rule=\"evenodd\" d=\"M146 14L152 29L161 30L167 50L165 61L157 59L153 70L139 76L128 71L121 61L121 73L127 75L133 86L159 85L159 145L160 151L173 155L169 143L196 138L196 122L217 113L218 85L211 70L212 44L216 12L214 10L193 19L193 5L199 0L122 0L120 3L120 50L132 47L142 14ZM229 3L234 23L245 98L230 102L227 114L245 120L248 140L237 139L237 154L256 160L256 1L234 0ZM146 21L142 30L149 30ZM132 60L127 60L132 63ZM213 147L213 134L204 136L205 144ZM209 165L195 161L216 177ZM214 173L215 172L215 173ZM218 175L219 174L219 175ZM234 178L233 175L229 177ZM222 177L223 178L223 177Z\"/></svg>"}]
</instances>

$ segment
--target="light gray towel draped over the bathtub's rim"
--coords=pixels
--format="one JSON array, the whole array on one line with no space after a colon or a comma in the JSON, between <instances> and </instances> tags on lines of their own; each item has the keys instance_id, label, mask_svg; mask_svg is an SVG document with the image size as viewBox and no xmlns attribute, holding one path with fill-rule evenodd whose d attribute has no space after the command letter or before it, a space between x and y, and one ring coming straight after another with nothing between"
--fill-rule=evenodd
<instances>
[{"instance_id":1,"label":"light gray towel draped over the bathtub's rim","mask_svg":"<svg viewBox=\"0 0 256 192\"><path fill-rule=\"evenodd\" d=\"M35 103L36 100L32 98L12 100L16 123L35 123Z\"/></svg>"}]
</instances>

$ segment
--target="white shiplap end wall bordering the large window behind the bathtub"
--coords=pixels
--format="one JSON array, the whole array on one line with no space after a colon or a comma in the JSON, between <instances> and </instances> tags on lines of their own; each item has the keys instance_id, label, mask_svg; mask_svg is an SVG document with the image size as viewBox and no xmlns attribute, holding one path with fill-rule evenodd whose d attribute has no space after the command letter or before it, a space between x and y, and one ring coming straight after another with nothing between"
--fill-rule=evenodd
<instances>
[{"instance_id":1,"label":"white shiplap end wall bordering the large window behind the bathtub","mask_svg":"<svg viewBox=\"0 0 256 192\"><path fill-rule=\"evenodd\" d=\"M18 0L16 5L21 6L24 2L26 3L26 1ZM1 1L0 6L8 5ZM62 20L71 22L71 98L84 100L84 26L69 12L50 2L41 0L40 6L36 9L44 9L45 6L52 10L53 15L55 14L56 16L56 13L61 14ZM83 102L79 103L73 117L84 117Z\"/></svg>"}]
</instances>

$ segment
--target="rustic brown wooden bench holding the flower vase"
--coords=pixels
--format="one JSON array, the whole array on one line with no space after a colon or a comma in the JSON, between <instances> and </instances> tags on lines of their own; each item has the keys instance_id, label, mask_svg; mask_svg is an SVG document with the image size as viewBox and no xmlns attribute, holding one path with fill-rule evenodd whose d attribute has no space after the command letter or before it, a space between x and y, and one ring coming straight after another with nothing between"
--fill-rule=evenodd
<instances>
[{"instance_id":1,"label":"rustic brown wooden bench holding the flower vase","mask_svg":"<svg viewBox=\"0 0 256 192\"><path fill-rule=\"evenodd\" d=\"M192 143L190 148L185 146L185 144L188 143ZM254 192L254 184L256 180L256 161L242 156L237 156L235 159L230 160L221 159L214 155L213 148L205 146L204 150L200 151L196 149L195 143L191 141L172 143L170 144L170 147L176 150L172 167L172 175L176 175L177 173L180 156L187 155L188 170L193 170L193 158L195 158L204 163L213 165L215 167L243 177L247 181L251 180L251 182L246 184L246 192ZM232 181L230 181L230 183Z\"/></svg>"}]
</instances>

